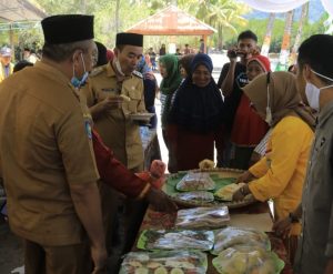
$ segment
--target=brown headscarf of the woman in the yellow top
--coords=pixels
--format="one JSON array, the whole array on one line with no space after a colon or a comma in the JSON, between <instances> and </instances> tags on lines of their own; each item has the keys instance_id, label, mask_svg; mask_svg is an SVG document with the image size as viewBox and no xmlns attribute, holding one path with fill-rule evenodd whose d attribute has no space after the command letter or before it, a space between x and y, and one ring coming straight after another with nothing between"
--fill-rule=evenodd
<instances>
[{"instance_id":1,"label":"brown headscarf of the woman in the yellow top","mask_svg":"<svg viewBox=\"0 0 333 274\"><path fill-rule=\"evenodd\" d=\"M292 73L276 71L270 73L270 106L274 126L285 116L300 116L310 128L314 129L313 115L301 105L301 95L296 89L296 80ZM268 106L268 74L255 78L243 88L244 93L261 113L266 113Z\"/></svg>"}]
</instances>

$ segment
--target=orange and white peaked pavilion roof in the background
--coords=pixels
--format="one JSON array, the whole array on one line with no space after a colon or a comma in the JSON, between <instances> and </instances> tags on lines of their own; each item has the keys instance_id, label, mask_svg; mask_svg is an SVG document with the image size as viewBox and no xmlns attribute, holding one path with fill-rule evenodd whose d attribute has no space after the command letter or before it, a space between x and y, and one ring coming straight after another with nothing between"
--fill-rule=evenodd
<instances>
[{"instance_id":1,"label":"orange and white peaked pavilion roof in the background","mask_svg":"<svg viewBox=\"0 0 333 274\"><path fill-rule=\"evenodd\" d=\"M210 35L216 30L174 6L140 21L125 32L143 35Z\"/></svg>"}]
</instances>

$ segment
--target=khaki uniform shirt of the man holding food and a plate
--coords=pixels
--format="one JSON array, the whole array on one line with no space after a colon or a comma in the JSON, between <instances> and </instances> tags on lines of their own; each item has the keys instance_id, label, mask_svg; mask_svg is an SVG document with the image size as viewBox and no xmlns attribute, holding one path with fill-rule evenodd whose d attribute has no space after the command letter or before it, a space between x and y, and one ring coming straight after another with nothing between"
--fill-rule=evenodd
<instances>
[{"instance_id":1,"label":"khaki uniform shirt of the man holding food and a plate","mask_svg":"<svg viewBox=\"0 0 333 274\"><path fill-rule=\"evenodd\" d=\"M121 109L108 110L94 120L103 142L114 152L115 158L128 169L143 164L143 149L138 123L130 113L144 112L143 81L140 74L132 74L118 82L110 63L95 69L83 88L88 106L103 101L107 97L124 94L131 99Z\"/></svg>"}]
</instances>

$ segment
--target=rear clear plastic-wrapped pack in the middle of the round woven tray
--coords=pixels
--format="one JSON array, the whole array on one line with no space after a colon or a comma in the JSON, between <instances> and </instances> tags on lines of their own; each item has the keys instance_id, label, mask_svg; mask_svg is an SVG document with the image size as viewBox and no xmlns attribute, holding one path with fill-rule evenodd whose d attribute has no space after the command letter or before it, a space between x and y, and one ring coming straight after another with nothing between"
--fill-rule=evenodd
<instances>
[{"instance_id":1,"label":"rear clear plastic-wrapped pack in the middle of the round woven tray","mask_svg":"<svg viewBox=\"0 0 333 274\"><path fill-rule=\"evenodd\" d=\"M175 186L178 191L212 191L214 181L209 173L189 172Z\"/></svg>"}]
</instances>

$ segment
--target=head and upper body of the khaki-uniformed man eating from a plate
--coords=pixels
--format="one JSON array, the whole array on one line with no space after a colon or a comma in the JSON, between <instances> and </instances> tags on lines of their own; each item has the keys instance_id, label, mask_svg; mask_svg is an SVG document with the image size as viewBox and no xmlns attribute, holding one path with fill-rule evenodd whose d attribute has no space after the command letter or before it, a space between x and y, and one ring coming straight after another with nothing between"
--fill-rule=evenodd
<instances>
[{"instance_id":1,"label":"head and upper body of the khaki-uniformed man eating from a plate","mask_svg":"<svg viewBox=\"0 0 333 274\"><path fill-rule=\"evenodd\" d=\"M134 72L142 42L141 34L118 33L113 61L95 69L83 90L103 142L134 172L143 169L143 150L139 124L129 114L145 112L142 75Z\"/></svg>"}]
</instances>

